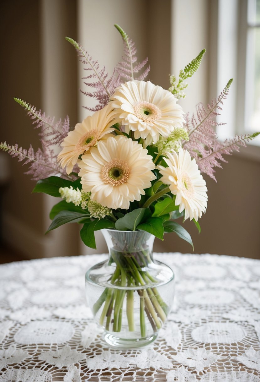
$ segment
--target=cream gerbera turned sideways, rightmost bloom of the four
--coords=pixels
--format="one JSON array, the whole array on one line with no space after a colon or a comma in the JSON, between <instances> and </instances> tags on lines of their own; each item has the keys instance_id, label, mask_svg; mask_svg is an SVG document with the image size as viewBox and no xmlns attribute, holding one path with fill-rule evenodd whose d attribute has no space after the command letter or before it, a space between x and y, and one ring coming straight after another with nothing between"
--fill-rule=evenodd
<instances>
[{"instance_id":1,"label":"cream gerbera turned sideways, rightmost bloom of the four","mask_svg":"<svg viewBox=\"0 0 260 382\"><path fill-rule=\"evenodd\" d=\"M189 217L189 220L197 221L207 208L206 182L187 150L180 148L178 153L168 153L167 156L164 160L169 167L157 166L162 174L160 180L170 185L172 194L176 195L176 206L180 205L180 212L185 210L185 220Z\"/></svg>"}]
</instances>

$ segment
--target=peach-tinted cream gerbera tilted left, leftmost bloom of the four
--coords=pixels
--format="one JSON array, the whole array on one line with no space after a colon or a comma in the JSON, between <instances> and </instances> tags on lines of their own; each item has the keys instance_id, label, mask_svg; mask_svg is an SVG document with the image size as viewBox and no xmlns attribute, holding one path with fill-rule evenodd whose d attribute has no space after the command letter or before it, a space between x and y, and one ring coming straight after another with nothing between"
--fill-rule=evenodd
<instances>
[{"instance_id":1,"label":"peach-tinted cream gerbera tilted left, leftmost bloom of the four","mask_svg":"<svg viewBox=\"0 0 260 382\"><path fill-rule=\"evenodd\" d=\"M66 166L67 174L72 172L80 154L88 151L91 146L95 146L100 139L111 136L108 133L114 131L114 128L111 128L114 123L116 120L109 103L103 109L85 118L82 123L77 123L73 131L69 131L61 143L63 150L58 155L58 162L62 168Z\"/></svg>"}]
</instances>

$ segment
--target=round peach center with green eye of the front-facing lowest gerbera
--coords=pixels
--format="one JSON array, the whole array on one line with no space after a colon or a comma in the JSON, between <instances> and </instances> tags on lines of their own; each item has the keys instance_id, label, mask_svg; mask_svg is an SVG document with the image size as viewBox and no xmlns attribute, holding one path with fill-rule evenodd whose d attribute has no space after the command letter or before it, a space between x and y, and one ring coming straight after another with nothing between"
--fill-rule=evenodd
<instances>
[{"instance_id":1,"label":"round peach center with green eye of the front-facing lowest gerbera","mask_svg":"<svg viewBox=\"0 0 260 382\"><path fill-rule=\"evenodd\" d=\"M125 183L130 175L127 162L122 159L113 159L106 163L101 170L101 179L109 185Z\"/></svg>"}]
</instances>

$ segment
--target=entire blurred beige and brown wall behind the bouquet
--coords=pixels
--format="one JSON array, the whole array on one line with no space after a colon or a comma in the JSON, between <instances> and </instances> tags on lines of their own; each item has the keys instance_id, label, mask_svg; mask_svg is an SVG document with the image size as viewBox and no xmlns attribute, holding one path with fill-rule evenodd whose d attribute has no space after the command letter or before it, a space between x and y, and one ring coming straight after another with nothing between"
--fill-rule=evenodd
<instances>
[{"instance_id":1,"label":"entire blurred beige and brown wall behind the bouquet","mask_svg":"<svg viewBox=\"0 0 260 382\"><path fill-rule=\"evenodd\" d=\"M181 104L185 111L193 111L198 102L209 102L216 95L215 6L216 2L207 0L31 0L26 7L17 0L2 2L0 140L10 144L18 141L23 147L31 142L37 147L37 131L13 101L14 96L57 118L68 113L72 127L85 118L82 105L87 99L78 92L85 73L80 64L77 66L74 48L63 38L77 39L111 73L122 55L114 23L136 42L139 60L149 57L149 78L165 88L168 75L178 74L205 47L207 56L189 81L187 98ZM187 34L191 29L193 33ZM217 184L205 177L209 205L200 221L201 234L193 223L185 223L195 253L260 257L259 151L258 147L252 157L246 151L229 157L230 163L217 170ZM80 246L77 225L43 235L53 200L31 194L34 183L22 174L21 163L11 158L9 162L12 176L1 211L5 239L27 257L86 253ZM101 244L98 252L104 250ZM191 248L168 234L163 243L156 241L155 250L185 253Z\"/></svg>"}]
</instances>

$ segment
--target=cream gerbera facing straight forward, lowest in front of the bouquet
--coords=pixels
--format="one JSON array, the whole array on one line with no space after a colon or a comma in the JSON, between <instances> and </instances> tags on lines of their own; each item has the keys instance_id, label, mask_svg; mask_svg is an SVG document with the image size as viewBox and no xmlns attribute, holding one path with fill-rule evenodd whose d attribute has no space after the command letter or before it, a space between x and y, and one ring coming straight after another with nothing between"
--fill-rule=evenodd
<instances>
[{"instance_id":1,"label":"cream gerbera facing straight forward, lowest in front of the bouquet","mask_svg":"<svg viewBox=\"0 0 260 382\"><path fill-rule=\"evenodd\" d=\"M128 209L129 202L139 201L144 188L156 179L151 171L155 165L147 152L125 136L99 141L79 163L83 191L91 191L90 199L102 206Z\"/></svg>"}]
</instances>

